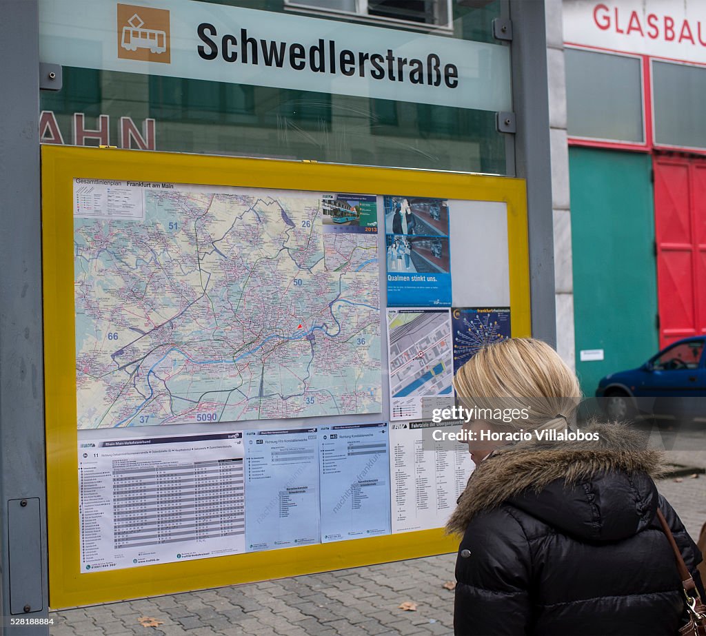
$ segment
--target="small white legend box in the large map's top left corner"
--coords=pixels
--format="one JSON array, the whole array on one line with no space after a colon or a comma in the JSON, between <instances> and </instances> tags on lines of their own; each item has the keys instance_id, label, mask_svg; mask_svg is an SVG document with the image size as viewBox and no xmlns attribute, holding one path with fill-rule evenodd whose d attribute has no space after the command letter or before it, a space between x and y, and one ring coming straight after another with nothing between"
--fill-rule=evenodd
<instances>
[{"instance_id":1,"label":"small white legend box in the large map's top left corner","mask_svg":"<svg viewBox=\"0 0 706 636\"><path fill-rule=\"evenodd\" d=\"M86 219L145 220L145 184L109 179L73 179L73 216Z\"/></svg>"}]
</instances>

